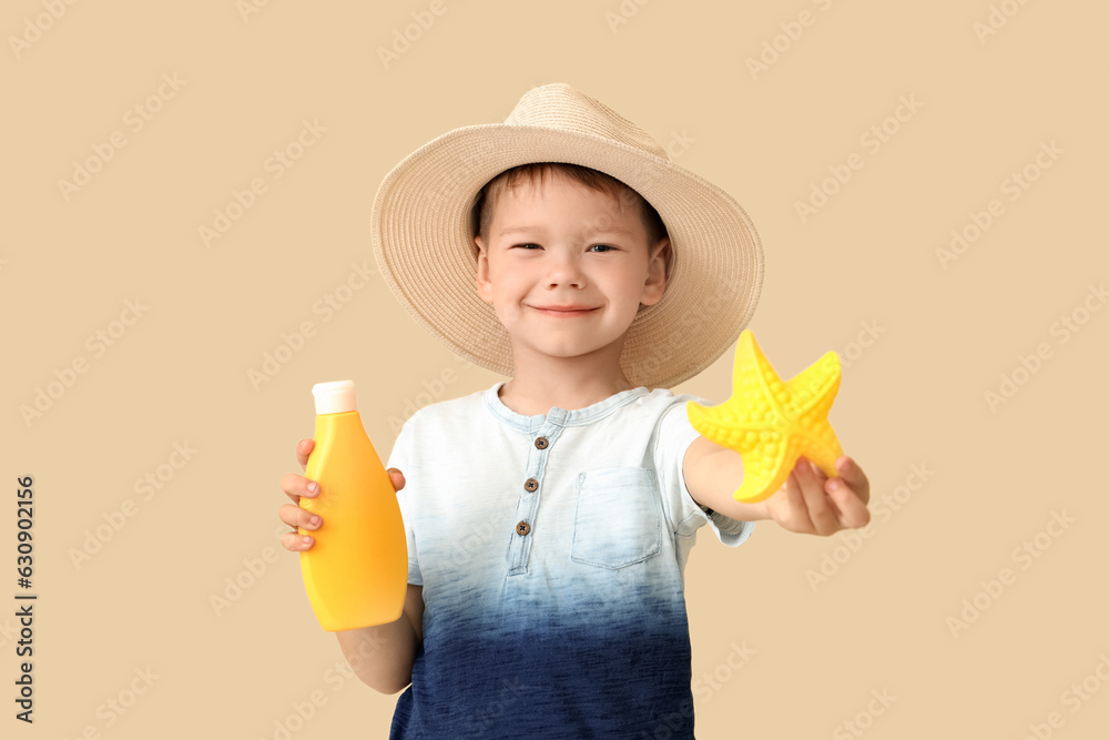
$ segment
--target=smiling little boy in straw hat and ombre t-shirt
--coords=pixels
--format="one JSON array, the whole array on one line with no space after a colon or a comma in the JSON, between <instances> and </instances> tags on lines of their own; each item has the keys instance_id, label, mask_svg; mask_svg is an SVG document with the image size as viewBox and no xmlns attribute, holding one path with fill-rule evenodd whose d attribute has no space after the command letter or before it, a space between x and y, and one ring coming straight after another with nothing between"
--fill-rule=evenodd
<instances>
[{"instance_id":1,"label":"smiling little boy in straw hat and ombre t-shirt","mask_svg":"<svg viewBox=\"0 0 1109 740\"><path fill-rule=\"evenodd\" d=\"M757 519L820 535L868 521L846 456L838 478L802 459L770 498L735 501L740 455L685 413L710 402L665 388L750 318L762 257L746 215L557 84L505 124L413 153L374 223L383 275L417 321L510 377L418 410L389 458L405 614L337 637L367 685L407 687L390 737L692 738L683 572L696 530L734 547ZM297 446L302 466L311 449ZM282 483L294 504L319 493ZM324 526L292 504L279 516Z\"/></svg>"}]
</instances>

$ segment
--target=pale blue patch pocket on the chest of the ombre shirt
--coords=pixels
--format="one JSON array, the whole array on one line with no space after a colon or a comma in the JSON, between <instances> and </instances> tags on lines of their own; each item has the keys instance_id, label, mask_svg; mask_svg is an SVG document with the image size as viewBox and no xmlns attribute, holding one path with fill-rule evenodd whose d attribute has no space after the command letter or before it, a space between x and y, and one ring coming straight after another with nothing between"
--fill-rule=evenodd
<instances>
[{"instance_id":1,"label":"pale blue patch pocket on the chest of the ombre shirt","mask_svg":"<svg viewBox=\"0 0 1109 740\"><path fill-rule=\"evenodd\" d=\"M625 568L662 548L662 510L654 470L602 468L578 475L570 559Z\"/></svg>"}]
</instances>

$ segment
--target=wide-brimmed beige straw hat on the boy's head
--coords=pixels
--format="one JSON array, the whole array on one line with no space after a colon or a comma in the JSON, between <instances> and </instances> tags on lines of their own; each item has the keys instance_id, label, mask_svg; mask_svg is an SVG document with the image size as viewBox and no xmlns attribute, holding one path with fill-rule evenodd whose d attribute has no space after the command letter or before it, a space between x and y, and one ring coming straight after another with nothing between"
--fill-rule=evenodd
<instances>
[{"instance_id":1,"label":"wide-brimmed beige straw hat on the boy's head","mask_svg":"<svg viewBox=\"0 0 1109 740\"><path fill-rule=\"evenodd\" d=\"M642 129L561 83L529 90L503 123L438 136L381 182L374 254L420 325L476 365L512 375L508 332L474 284L470 212L488 181L533 162L604 172L647 199L667 226L673 262L665 292L640 310L621 355L633 385L671 387L732 346L762 287L762 247L747 214L728 193L671 162Z\"/></svg>"}]
</instances>

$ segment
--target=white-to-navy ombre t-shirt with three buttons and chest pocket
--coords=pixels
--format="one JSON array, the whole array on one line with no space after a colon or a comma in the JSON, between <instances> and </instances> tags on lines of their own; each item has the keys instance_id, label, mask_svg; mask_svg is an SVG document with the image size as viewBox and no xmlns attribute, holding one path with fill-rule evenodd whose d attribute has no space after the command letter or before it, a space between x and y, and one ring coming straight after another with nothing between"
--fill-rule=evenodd
<instances>
[{"instance_id":1,"label":"white-to-navy ombre t-shirt with three buttons and chest pocket","mask_svg":"<svg viewBox=\"0 0 1109 740\"><path fill-rule=\"evenodd\" d=\"M525 416L501 385L421 408L389 457L425 604L390 738L692 738L685 561L701 526L754 527L685 488L685 402L709 402Z\"/></svg>"}]
</instances>

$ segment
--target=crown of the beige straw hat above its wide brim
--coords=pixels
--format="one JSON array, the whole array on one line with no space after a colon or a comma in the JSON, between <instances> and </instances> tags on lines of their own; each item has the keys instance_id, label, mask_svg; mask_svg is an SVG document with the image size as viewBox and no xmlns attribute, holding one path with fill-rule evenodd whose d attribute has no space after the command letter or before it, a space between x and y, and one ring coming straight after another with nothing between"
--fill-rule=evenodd
<instances>
[{"instance_id":1,"label":"crown of the beige straw hat above its wide brim","mask_svg":"<svg viewBox=\"0 0 1109 740\"><path fill-rule=\"evenodd\" d=\"M545 84L523 93L505 119L506 125L557 129L621 144L670 160L667 150L649 133L608 105L564 82Z\"/></svg>"}]
</instances>

